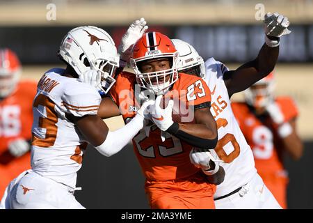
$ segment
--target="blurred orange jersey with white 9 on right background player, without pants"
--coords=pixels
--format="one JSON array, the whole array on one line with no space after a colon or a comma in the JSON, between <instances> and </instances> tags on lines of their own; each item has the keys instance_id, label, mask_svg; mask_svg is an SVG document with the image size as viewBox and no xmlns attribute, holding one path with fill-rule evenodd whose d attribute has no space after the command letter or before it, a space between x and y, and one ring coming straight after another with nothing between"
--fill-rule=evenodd
<instances>
[{"instance_id":1,"label":"blurred orange jersey with white 9 on right background player, without pants","mask_svg":"<svg viewBox=\"0 0 313 223\"><path fill-rule=\"evenodd\" d=\"M284 121L289 121L298 116L298 109L294 102L287 97L276 98L280 106ZM271 118L263 122L253 114L246 103L233 102L232 110L238 121L243 134L255 157L255 167L259 171L281 171L282 146L281 142L273 131L275 125Z\"/></svg>"}]
</instances>

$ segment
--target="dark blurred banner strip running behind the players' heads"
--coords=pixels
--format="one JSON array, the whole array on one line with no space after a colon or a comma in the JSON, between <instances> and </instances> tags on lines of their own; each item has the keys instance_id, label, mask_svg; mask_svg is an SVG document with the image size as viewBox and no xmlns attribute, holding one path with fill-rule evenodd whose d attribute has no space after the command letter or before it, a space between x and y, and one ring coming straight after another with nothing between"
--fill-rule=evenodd
<instances>
[{"instance_id":1,"label":"dark blurred banner strip running behind the players' heads","mask_svg":"<svg viewBox=\"0 0 313 223\"><path fill-rule=\"evenodd\" d=\"M101 26L120 43L127 26ZM24 64L59 63L56 57L63 36L74 26L3 26L0 27L0 47L10 47ZM281 62L313 61L313 25L291 26L292 35L281 39ZM148 31L161 31L170 38L191 43L200 55L223 62L244 62L254 59L264 43L264 31L259 25L223 26L150 26Z\"/></svg>"}]
</instances>

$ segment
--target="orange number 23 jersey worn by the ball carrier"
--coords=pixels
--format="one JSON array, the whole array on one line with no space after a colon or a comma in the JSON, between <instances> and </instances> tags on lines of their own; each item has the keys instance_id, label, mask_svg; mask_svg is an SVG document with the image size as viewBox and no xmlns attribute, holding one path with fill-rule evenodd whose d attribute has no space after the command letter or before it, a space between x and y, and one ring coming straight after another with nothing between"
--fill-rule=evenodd
<instances>
[{"instance_id":1,"label":"orange number 23 jersey worn by the ball carrier","mask_svg":"<svg viewBox=\"0 0 313 223\"><path fill-rule=\"evenodd\" d=\"M134 74L122 72L110 91L111 98L120 107L124 119L134 117L136 109L140 107L134 95L135 84ZM184 73L179 73L179 79L164 97L172 98L174 103L183 101L186 105L211 102L211 92L207 84L200 77ZM189 160L192 146L171 134L166 134L166 140L162 141L161 130L156 125L152 125L148 137L145 130L138 132L133 144L147 180L175 180L199 171Z\"/></svg>"}]
</instances>

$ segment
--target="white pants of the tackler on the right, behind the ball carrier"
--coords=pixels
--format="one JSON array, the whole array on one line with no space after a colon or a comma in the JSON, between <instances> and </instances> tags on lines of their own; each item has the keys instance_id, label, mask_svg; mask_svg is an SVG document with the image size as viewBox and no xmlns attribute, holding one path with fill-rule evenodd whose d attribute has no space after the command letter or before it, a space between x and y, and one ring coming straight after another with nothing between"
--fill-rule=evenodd
<instances>
[{"instance_id":1,"label":"white pants of the tackler on the right, behind the ball carrier","mask_svg":"<svg viewBox=\"0 0 313 223\"><path fill-rule=\"evenodd\" d=\"M282 209L259 174L239 192L214 201L216 209Z\"/></svg>"}]
</instances>

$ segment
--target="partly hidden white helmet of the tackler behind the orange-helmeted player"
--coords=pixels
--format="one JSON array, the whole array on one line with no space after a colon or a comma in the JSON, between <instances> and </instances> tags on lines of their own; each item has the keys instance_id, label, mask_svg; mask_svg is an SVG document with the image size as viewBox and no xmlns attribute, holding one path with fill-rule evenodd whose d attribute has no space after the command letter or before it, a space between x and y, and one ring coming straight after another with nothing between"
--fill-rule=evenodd
<instances>
[{"instance_id":1,"label":"partly hidden white helmet of the tackler behind the orange-helmeted player","mask_svg":"<svg viewBox=\"0 0 313 223\"><path fill-rule=\"evenodd\" d=\"M204 61L195 48L189 43L179 39L172 39L172 43L174 43L179 54L179 63L177 65L179 72L204 78Z\"/></svg>"}]
</instances>

